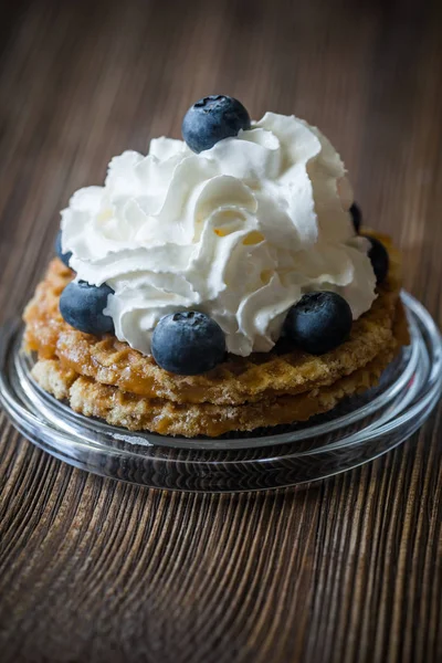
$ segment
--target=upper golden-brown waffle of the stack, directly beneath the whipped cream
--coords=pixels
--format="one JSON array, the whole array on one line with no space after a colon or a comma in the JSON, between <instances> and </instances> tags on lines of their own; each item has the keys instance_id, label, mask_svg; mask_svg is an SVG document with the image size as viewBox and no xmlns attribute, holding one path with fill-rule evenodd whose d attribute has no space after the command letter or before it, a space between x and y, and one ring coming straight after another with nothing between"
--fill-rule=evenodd
<instances>
[{"instance_id":1,"label":"upper golden-brown waffle of the stack, directly beneath the whipped cream","mask_svg":"<svg viewBox=\"0 0 442 663\"><path fill-rule=\"evenodd\" d=\"M145 399L161 399L178 406L240 406L312 393L368 366L396 344L392 324L401 284L400 261L388 240L381 239L390 253L387 282L379 288L371 309L354 323L349 339L320 357L301 350L274 349L250 357L230 355L227 361L201 376L169 373L151 357L115 336L98 338L83 334L63 320L59 312L60 294L73 274L59 260L51 262L25 309L24 346L35 350L39 358L60 361L63 370L73 370L88 378L92 385L113 386Z\"/></svg>"}]
</instances>

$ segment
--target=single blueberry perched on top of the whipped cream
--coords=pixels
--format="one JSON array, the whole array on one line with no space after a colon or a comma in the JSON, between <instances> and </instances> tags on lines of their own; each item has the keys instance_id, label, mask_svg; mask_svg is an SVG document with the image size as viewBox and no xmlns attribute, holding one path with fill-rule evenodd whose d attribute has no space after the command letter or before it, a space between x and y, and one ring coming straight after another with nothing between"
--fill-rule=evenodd
<instances>
[{"instance_id":1,"label":"single blueberry perched on top of the whipped cream","mask_svg":"<svg viewBox=\"0 0 442 663\"><path fill-rule=\"evenodd\" d=\"M250 129L250 116L238 99L217 94L190 106L182 120L182 137L191 150L199 154L223 138Z\"/></svg>"}]
</instances>

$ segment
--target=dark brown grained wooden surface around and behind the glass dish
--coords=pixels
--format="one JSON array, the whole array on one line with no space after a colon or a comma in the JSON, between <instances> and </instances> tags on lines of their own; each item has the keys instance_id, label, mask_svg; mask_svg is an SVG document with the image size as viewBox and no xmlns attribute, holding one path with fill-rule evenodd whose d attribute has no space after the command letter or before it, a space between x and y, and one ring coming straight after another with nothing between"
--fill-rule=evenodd
<instances>
[{"instance_id":1,"label":"dark brown grained wooden surface around and behind the glass dish","mask_svg":"<svg viewBox=\"0 0 442 663\"><path fill-rule=\"evenodd\" d=\"M254 117L324 129L441 323L438 4L3 2L2 319L30 296L69 196L227 92ZM1 415L0 660L442 661L441 413L345 475L225 496L87 475Z\"/></svg>"}]
</instances>

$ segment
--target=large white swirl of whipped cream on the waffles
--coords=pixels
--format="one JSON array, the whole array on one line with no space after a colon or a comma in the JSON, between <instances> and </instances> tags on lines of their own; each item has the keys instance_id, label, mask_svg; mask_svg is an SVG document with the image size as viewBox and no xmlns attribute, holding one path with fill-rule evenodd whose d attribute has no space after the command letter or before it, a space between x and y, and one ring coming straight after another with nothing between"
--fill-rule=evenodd
<instances>
[{"instance_id":1,"label":"large white swirl of whipped cream on the waffles","mask_svg":"<svg viewBox=\"0 0 442 663\"><path fill-rule=\"evenodd\" d=\"M266 113L199 155L157 138L147 156L115 157L105 186L62 211L62 246L77 278L115 291L105 313L133 348L148 355L162 316L198 309L248 356L274 346L306 292L339 293L354 318L370 308L376 278L351 202L327 138Z\"/></svg>"}]
</instances>

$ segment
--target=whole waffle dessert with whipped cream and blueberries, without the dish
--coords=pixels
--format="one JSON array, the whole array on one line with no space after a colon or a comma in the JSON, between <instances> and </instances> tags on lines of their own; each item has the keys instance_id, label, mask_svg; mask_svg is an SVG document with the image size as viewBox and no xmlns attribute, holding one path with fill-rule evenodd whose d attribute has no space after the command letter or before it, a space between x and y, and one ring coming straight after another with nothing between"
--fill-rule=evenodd
<instances>
[{"instance_id":1,"label":"whole waffle dessert with whipped cream and blueberries, without the dish","mask_svg":"<svg viewBox=\"0 0 442 663\"><path fill-rule=\"evenodd\" d=\"M188 438L305 421L375 386L408 343L400 256L361 228L332 144L223 95L182 136L115 157L62 211L24 312L38 383Z\"/></svg>"}]
</instances>

